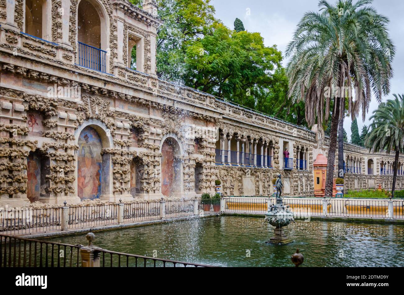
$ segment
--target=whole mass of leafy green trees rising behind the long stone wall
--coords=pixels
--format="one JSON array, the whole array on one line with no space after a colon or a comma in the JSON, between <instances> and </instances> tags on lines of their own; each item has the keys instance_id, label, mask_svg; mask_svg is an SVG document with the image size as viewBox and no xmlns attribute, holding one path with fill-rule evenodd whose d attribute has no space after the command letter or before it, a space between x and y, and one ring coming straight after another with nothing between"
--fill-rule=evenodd
<instances>
[{"instance_id":1,"label":"whole mass of leafy green trees rising behind the long stone wall","mask_svg":"<svg viewBox=\"0 0 404 295\"><path fill-rule=\"evenodd\" d=\"M131 2L141 7L143 0ZM276 46L266 47L259 33L225 27L215 19L210 0L157 4L163 21L156 55L159 77L307 126L304 102L292 103L287 95L288 79Z\"/></svg>"}]
</instances>

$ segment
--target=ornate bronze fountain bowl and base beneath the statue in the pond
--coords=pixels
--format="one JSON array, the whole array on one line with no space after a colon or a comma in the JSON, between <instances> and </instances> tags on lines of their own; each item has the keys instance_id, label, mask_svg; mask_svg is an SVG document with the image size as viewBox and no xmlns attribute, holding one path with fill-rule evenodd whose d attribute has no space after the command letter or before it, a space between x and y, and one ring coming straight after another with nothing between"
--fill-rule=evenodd
<instances>
[{"instance_id":1,"label":"ornate bronze fountain bowl and base beneath the statue in the pond","mask_svg":"<svg viewBox=\"0 0 404 295\"><path fill-rule=\"evenodd\" d=\"M285 235L284 226L287 226L290 222L295 222L293 219L293 212L282 202L282 198L276 198L276 204L272 205L268 212L265 213L265 222L268 222L272 226L275 226L274 236L271 237L266 243L273 244L287 244L292 242Z\"/></svg>"}]
</instances>

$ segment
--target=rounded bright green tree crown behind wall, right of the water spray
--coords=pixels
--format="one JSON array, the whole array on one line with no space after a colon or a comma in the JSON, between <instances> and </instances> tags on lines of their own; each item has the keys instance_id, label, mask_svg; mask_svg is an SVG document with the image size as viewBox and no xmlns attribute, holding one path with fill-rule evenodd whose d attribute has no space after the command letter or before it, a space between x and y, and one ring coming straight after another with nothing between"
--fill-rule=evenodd
<instances>
[{"instance_id":1,"label":"rounded bright green tree crown behind wall, right of the water spray","mask_svg":"<svg viewBox=\"0 0 404 295\"><path fill-rule=\"evenodd\" d=\"M286 96L281 61L281 52L265 46L259 33L236 32L217 23L212 34L188 46L185 84L264 111L272 107L272 100Z\"/></svg>"}]
</instances>

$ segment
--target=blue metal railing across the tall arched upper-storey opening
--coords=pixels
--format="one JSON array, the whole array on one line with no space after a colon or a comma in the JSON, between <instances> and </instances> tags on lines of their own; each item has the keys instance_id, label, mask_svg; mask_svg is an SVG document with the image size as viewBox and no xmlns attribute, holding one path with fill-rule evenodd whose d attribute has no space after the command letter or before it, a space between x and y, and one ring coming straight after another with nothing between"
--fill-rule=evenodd
<instances>
[{"instance_id":1,"label":"blue metal railing across the tall arched upper-storey opening","mask_svg":"<svg viewBox=\"0 0 404 295\"><path fill-rule=\"evenodd\" d=\"M106 51L82 42L78 42L78 65L106 73L106 56Z\"/></svg>"}]
</instances>

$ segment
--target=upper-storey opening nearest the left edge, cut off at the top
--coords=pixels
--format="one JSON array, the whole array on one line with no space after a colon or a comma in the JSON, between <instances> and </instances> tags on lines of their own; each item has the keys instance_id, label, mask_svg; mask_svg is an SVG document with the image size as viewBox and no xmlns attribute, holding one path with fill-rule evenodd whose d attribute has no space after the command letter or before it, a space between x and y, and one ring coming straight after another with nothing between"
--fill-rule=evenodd
<instances>
[{"instance_id":1,"label":"upper-storey opening nearest the left edge, cut off at the top","mask_svg":"<svg viewBox=\"0 0 404 295\"><path fill-rule=\"evenodd\" d=\"M25 0L25 33L50 41L50 0Z\"/></svg>"}]
</instances>

